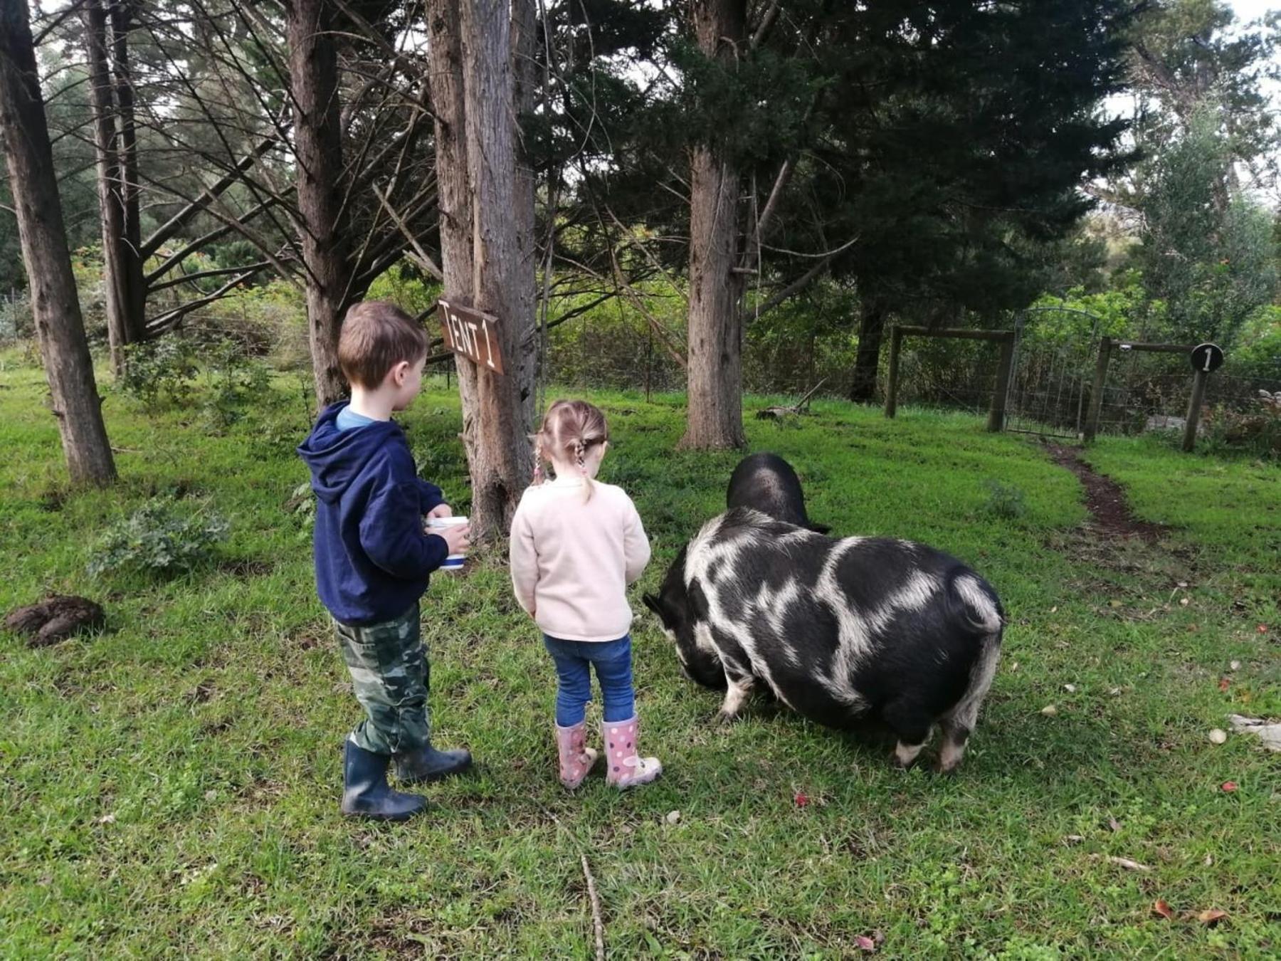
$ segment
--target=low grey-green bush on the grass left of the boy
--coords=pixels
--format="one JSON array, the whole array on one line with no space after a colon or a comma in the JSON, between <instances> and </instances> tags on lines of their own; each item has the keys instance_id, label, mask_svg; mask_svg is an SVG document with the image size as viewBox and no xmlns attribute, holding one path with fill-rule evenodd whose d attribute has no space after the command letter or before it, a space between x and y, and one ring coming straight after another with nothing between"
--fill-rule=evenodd
<instances>
[{"instance_id":1,"label":"low grey-green bush on the grass left of the boy","mask_svg":"<svg viewBox=\"0 0 1281 961\"><path fill-rule=\"evenodd\" d=\"M108 529L94 547L88 573L179 574L208 561L229 527L215 511L184 514L173 501L152 498Z\"/></svg>"}]
</instances>

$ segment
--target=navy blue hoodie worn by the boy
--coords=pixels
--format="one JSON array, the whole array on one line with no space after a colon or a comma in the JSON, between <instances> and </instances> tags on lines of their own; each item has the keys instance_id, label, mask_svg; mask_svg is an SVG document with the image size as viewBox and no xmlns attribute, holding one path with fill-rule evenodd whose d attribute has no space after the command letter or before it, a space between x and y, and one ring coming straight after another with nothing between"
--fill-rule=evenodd
<instances>
[{"instance_id":1,"label":"navy blue hoodie worn by the boy","mask_svg":"<svg viewBox=\"0 0 1281 961\"><path fill-rule=\"evenodd\" d=\"M338 621L359 627L407 611L450 551L423 533L423 515L445 498L419 479L405 432L393 420L339 431L346 406L322 411L298 455L319 498L316 592Z\"/></svg>"}]
</instances>

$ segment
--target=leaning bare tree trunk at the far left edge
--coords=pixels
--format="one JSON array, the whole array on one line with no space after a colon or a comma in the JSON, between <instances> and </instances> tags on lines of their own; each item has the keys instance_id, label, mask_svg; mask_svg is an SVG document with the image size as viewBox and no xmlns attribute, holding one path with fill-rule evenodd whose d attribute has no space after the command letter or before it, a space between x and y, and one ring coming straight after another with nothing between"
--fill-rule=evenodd
<instances>
[{"instance_id":1,"label":"leaning bare tree trunk at the far left edge","mask_svg":"<svg viewBox=\"0 0 1281 961\"><path fill-rule=\"evenodd\" d=\"M85 340L26 0L0 0L0 129L36 336L72 481L115 479Z\"/></svg>"}]
</instances>

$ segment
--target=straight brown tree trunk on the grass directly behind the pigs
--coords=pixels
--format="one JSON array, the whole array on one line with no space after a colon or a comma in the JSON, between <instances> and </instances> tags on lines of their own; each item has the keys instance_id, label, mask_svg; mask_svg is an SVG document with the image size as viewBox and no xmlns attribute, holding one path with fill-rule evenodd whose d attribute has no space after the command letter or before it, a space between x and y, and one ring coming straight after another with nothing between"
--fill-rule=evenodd
<instances>
[{"instance_id":1,"label":"straight brown tree trunk on the grass directly behind the pigs","mask_svg":"<svg viewBox=\"0 0 1281 961\"><path fill-rule=\"evenodd\" d=\"M746 0L694 0L698 47L729 60L744 41ZM735 46L738 45L738 46ZM689 191L689 400L680 446L740 447L743 283L738 265L738 169L722 151L693 151Z\"/></svg>"}]
</instances>

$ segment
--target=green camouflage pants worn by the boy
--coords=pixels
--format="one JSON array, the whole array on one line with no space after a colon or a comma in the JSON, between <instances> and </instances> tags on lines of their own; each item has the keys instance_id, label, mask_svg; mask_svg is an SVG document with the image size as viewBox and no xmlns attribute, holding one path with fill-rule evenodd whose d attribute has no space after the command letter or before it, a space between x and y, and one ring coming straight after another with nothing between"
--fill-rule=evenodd
<instances>
[{"instance_id":1,"label":"green camouflage pants worn by the boy","mask_svg":"<svg viewBox=\"0 0 1281 961\"><path fill-rule=\"evenodd\" d=\"M334 621L334 629L366 715L351 739L378 755L425 747L432 730L427 711L430 668L418 604L396 620L363 628Z\"/></svg>"}]
</instances>

